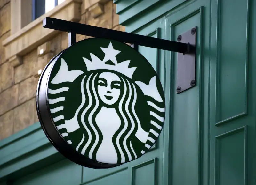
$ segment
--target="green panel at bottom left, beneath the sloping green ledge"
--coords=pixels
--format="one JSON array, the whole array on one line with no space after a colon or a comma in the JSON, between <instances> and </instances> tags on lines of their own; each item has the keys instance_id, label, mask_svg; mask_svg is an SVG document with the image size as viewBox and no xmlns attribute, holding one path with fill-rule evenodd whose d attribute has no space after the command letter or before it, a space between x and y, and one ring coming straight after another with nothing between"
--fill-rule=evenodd
<instances>
[{"instance_id":1,"label":"green panel at bottom left, beneath the sloping green ledge","mask_svg":"<svg viewBox=\"0 0 256 185\"><path fill-rule=\"evenodd\" d=\"M68 159L29 174L12 185L76 185L81 183L82 166Z\"/></svg>"}]
</instances>

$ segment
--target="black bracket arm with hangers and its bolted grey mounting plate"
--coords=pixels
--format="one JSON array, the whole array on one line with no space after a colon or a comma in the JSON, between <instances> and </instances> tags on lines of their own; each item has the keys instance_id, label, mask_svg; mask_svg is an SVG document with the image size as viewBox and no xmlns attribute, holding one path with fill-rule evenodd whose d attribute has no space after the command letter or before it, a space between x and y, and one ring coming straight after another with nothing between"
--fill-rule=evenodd
<instances>
[{"instance_id":1,"label":"black bracket arm with hangers and its bolted grey mounting plate","mask_svg":"<svg viewBox=\"0 0 256 185\"><path fill-rule=\"evenodd\" d=\"M138 46L145 46L177 52L177 93L195 85L196 28L193 28L195 29L194 34L192 34L191 30L189 31L190 36L188 36L188 32L181 36L179 35L180 39L178 38L178 42L176 42L51 17L44 18L43 27L68 32L68 46L76 43L76 34L80 34L130 43L137 51ZM189 85L188 80L190 80ZM194 83L192 80L194 80Z\"/></svg>"}]
</instances>

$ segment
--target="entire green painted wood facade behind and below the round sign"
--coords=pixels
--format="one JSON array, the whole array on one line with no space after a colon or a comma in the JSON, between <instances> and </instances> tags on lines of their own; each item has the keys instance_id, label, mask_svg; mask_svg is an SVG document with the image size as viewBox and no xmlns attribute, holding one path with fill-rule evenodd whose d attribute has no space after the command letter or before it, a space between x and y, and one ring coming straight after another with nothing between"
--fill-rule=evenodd
<instances>
[{"instance_id":1,"label":"entire green painted wood facade behind and below the round sign","mask_svg":"<svg viewBox=\"0 0 256 185\"><path fill-rule=\"evenodd\" d=\"M198 27L196 87L177 95L177 54L139 47L167 105L153 150L116 168L82 168L63 160L37 124L0 141L0 184L255 185L256 0L114 2L127 32L176 40Z\"/></svg>"}]
</instances>

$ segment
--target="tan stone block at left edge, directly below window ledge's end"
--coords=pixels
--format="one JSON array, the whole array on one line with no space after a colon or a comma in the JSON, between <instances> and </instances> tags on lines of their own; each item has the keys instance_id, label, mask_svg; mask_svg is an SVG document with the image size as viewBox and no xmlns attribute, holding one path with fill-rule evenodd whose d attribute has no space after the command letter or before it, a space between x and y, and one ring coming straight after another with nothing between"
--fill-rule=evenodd
<instances>
[{"instance_id":1,"label":"tan stone block at left edge, directly below window ledge's end","mask_svg":"<svg viewBox=\"0 0 256 185\"><path fill-rule=\"evenodd\" d=\"M5 62L2 65L0 65L0 85L2 91L11 87L14 84L13 74L14 71L10 62Z\"/></svg>"}]
</instances>

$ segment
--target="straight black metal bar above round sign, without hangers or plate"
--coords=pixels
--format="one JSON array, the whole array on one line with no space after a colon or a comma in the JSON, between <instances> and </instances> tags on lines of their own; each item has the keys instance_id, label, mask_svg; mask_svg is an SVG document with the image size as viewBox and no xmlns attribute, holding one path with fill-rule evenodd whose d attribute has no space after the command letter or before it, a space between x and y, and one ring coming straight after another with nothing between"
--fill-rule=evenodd
<instances>
[{"instance_id":1,"label":"straight black metal bar above round sign, without hangers or plate","mask_svg":"<svg viewBox=\"0 0 256 185\"><path fill-rule=\"evenodd\" d=\"M63 32L71 32L72 34L80 34L91 37L112 39L124 43L136 44L150 48L163 49L178 53L194 53L194 46L182 42L168 41L134 33L127 33L97 26L46 17L43 20L43 27L59 30Z\"/></svg>"}]
</instances>

